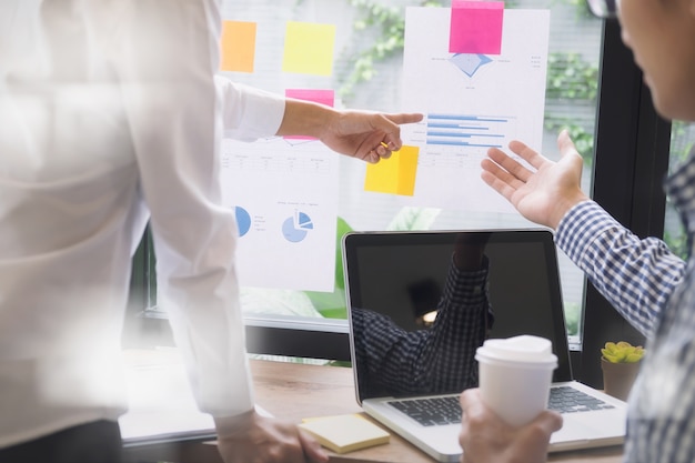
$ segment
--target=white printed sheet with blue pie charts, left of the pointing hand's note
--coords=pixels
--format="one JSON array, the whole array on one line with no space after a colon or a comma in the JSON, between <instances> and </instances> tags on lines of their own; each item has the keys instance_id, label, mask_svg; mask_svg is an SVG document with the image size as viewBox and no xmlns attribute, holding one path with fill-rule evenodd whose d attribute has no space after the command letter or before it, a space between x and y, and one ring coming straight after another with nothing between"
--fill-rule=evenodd
<instances>
[{"instance_id":1,"label":"white printed sheet with blue pie charts, left of the pointing hand's note","mask_svg":"<svg viewBox=\"0 0 695 463\"><path fill-rule=\"evenodd\" d=\"M236 215L242 286L334 290L338 169L319 141L224 140L222 198Z\"/></svg>"}]
</instances>

